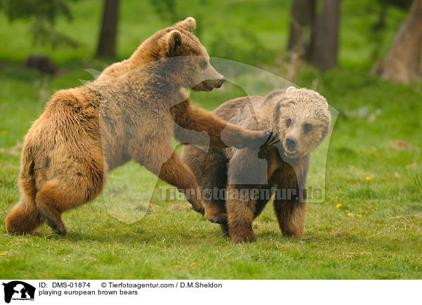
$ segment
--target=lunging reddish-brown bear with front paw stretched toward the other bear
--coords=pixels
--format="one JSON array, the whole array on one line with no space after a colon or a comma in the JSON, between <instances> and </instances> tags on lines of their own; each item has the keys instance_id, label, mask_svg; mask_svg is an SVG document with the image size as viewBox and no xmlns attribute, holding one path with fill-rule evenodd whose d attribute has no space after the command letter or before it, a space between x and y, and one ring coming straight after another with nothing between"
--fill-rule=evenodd
<instances>
[{"instance_id":1,"label":"lunging reddish-brown bear with front paw stretched toward the other bear","mask_svg":"<svg viewBox=\"0 0 422 305\"><path fill-rule=\"evenodd\" d=\"M193 108L184 88L210 91L224 77L211 65L187 18L160 30L94 82L56 92L23 143L18 202L8 233L30 233L44 220L65 234L65 210L93 200L108 171L134 160L177 186L204 212L192 172L171 140L215 147L259 147L271 131L247 131ZM186 196L187 197L187 196Z\"/></svg>"}]
</instances>

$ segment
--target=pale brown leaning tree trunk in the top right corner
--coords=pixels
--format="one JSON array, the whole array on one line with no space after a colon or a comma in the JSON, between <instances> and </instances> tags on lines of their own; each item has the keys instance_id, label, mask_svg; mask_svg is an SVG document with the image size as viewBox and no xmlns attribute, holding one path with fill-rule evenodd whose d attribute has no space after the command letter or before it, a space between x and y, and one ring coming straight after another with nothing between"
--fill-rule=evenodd
<instances>
[{"instance_id":1,"label":"pale brown leaning tree trunk in the top right corner","mask_svg":"<svg viewBox=\"0 0 422 305\"><path fill-rule=\"evenodd\" d=\"M414 0L407 20L392 43L385 63L377 72L389 82L408 84L419 77L422 50L422 0Z\"/></svg>"}]
</instances>

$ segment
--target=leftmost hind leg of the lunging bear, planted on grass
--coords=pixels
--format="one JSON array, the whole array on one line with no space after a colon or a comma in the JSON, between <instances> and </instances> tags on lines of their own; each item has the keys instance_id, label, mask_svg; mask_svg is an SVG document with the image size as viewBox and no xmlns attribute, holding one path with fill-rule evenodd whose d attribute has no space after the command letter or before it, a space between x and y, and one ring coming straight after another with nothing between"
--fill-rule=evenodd
<instances>
[{"instance_id":1,"label":"leftmost hind leg of the lunging bear, planted on grass","mask_svg":"<svg viewBox=\"0 0 422 305\"><path fill-rule=\"evenodd\" d=\"M35 188L34 179L34 162L30 154L23 151L22 167L19 176L20 184L20 201L12 208L6 217L6 230L9 234L25 234L32 233L44 218L35 205Z\"/></svg>"}]
</instances>

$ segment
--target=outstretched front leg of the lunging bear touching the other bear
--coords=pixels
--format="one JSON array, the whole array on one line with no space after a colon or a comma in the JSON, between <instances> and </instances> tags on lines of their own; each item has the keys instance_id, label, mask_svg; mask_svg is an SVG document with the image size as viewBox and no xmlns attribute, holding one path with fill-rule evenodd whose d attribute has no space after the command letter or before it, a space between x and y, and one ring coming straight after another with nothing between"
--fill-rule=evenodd
<instances>
[{"instance_id":1,"label":"outstretched front leg of the lunging bear touching the other bear","mask_svg":"<svg viewBox=\"0 0 422 305\"><path fill-rule=\"evenodd\" d=\"M225 122L212 112L201 108L193 108L188 100L170 108L174 122L179 127L174 129L174 137L182 143L210 145L210 147L236 148L255 147L267 143L272 136L271 131L251 131ZM192 133L191 131L199 131ZM208 138L200 131L205 131Z\"/></svg>"}]
</instances>

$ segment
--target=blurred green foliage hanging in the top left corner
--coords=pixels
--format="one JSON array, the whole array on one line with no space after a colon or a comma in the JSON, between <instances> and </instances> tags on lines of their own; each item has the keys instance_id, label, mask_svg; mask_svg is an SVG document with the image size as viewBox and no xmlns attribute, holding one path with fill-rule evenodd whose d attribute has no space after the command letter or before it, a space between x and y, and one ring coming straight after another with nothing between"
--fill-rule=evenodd
<instances>
[{"instance_id":1,"label":"blurred green foliage hanging in the top left corner","mask_svg":"<svg viewBox=\"0 0 422 305\"><path fill-rule=\"evenodd\" d=\"M0 0L0 12L6 15L9 22L30 20L34 44L51 44L53 48L78 45L75 39L55 29L56 20L60 16L72 21L72 12L63 0Z\"/></svg>"}]
</instances>

